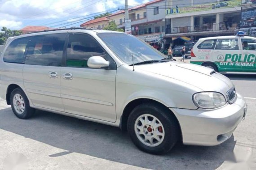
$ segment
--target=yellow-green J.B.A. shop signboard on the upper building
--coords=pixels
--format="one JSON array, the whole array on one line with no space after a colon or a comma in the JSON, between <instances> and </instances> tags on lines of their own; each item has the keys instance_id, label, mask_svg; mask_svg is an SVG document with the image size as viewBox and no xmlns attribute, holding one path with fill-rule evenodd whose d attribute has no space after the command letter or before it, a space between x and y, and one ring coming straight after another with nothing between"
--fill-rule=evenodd
<instances>
[{"instance_id":1,"label":"yellow-green J.B.A. shop signboard on the upper building","mask_svg":"<svg viewBox=\"0 0 256 170\"><path fill-rule=\"evenodd\" d=\"M223 9L223 8L234 8L238 6L241 6L241 0L228 0L223 2L216 1L208 4L195 4L190 7L176 6L176 8L167 9L166 15L193 13L193 12L208 11L208 10Z\"/></svg>"}]
</instances>

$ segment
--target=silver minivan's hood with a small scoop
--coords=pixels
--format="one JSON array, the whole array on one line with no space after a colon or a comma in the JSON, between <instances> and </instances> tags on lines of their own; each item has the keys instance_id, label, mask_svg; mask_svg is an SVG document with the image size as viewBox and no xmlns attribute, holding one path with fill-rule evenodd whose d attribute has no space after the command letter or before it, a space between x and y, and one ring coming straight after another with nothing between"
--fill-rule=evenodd
<instances>
[{"instance_id":1,"label":"silver minivan's hood with a small scoop","mask_svg":"<svg viewBox=\"0 0 256 170\"><path fill-rule=\"evenodd\" d=\"M185 63L155 63L135 66L136 69L183 81L202 91L225 93L234 87L229 78L214 72L211 68Z\"/></svg>"}]
</instances>

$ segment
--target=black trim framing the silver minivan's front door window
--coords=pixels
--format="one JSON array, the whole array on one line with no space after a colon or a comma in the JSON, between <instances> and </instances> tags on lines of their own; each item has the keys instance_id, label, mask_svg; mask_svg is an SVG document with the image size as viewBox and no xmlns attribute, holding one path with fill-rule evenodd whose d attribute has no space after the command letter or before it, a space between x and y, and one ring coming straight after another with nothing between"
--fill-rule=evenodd
<instances>
[{"instance_id":1,"label":"black trim framing the silver minivan's front door window","mask_svg":"<svg viewBox=\"0 0 256 170\"><path fill-rule=\"evenodd\" d=\"M65 42L65 45L64 45L64 49L65 49L64 51L65 51L65 53L64 53L64 51L63 51L63 57L62 57L62 63L63 63L62 67L66 67L66 68L84 68L84 69L100 69L100 70L116 70L116 69L117 69L117 65L116 65L116 63L115 63L115 59L113 59L113 58L111 57L111 55L102 47L102 45L101 45L92 35L90 35L90 34L88 34L88 33L83 33L83 32L68 32L67 34L68 34L68 36L67 36L67 38L66 38L66 42ZM110 69L110 67L108 67L108 68L90 68L90 67L71 67L71 66L66 66L67 47L68 47L68 43L69 43L70 34L85 34L85 35L88 35L88 36L92 37L92 38L98 43L98 45L99 45L100 47L102 47L103 51L105 51L106 54L109 55L110 58L113 60L113 63L110 62L110 64L111 64L111 63L113 64L113 66L112 66L113 69ZM115 64L115 66L114 66L114 64Z\"/></svg>"}]
</instances>

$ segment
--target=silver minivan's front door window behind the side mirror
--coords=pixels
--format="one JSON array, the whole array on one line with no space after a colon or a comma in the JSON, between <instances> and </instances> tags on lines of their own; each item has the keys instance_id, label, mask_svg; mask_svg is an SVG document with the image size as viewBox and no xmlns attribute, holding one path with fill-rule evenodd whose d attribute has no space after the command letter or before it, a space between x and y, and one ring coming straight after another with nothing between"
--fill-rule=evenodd
<instances>
[{"instance_id":1,"label":"silver minivan's front door window behind the side mirror","mask_svg":"<svg viewBox=\"0 0 256 170\"><path fill-rule=\"evenodd\" d=\"M109 69L116 69L114 60L92 36L88 34L70 34L66 66L88 68L87 61L92 56L102 56L110 61Z\"/></svg>"}]
</instances>

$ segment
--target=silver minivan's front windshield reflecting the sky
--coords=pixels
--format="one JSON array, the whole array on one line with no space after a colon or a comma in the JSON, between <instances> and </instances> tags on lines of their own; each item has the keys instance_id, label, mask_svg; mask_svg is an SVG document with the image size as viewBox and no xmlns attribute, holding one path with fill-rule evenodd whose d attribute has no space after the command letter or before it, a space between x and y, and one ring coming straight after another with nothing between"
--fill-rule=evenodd
<instances>
[{"instance_id":1,"label":"silver minivan's front windshield reflecting the sky","mask_svg":"<svg viewBox=\"0 0 256 170\"><path fill-rule=\"evenodd\" d=\"M112 50L124 63L153 63L148 61L161 61L166 57L150 45L142 42L130 34L124 33L98 33L99 38Z\"/></svg>"}]
</instances>

